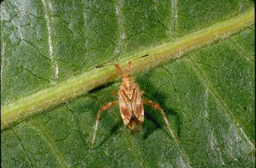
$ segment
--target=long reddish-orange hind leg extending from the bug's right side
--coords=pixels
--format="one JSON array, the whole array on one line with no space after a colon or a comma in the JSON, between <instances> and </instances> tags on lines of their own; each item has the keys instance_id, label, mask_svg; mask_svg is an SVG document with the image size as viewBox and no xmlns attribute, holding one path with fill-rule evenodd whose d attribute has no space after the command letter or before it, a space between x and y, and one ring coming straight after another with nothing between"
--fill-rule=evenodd
<instances>
[{"instance_id":1,"label":"long reddish-orange hind leg extending from the bug's right side","mask_svg":"<svg viewBox=\"0 0 256 168\"><path fill-rule=\"evenodd\" d=\"M153 107L153 108L155 108L155 109L159 109L159 110L161 111L162 117L164 118L164 121L165 121L166 125L168 125L168 129L169 129L169 131L170 131L170 133L171 133L172 138L174 139L174 141L176 141L176 142L179 144L179 140L178 140L178 138L176 137L176 135L174 134L174 132L173 132L173 130L172 130L172 128L171 128L171 126L170 126L168 120L167 120L166 117L165 117L164 111L163 111L163 109L159 106L159 104L156 104L155 102L153 102L153 101L151 101L151 100L148 100L148 99L143 99L142 101L143 101L144 104L146 104L146 105L148 105L148 106L151 106L151 107Z\"/></svg>"}]
</instances>

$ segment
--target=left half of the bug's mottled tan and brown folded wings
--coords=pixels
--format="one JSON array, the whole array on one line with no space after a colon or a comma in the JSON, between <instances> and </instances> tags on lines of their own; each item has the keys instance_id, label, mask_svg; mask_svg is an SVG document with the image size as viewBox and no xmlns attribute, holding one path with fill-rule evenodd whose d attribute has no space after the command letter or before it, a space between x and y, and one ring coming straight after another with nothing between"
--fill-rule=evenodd
<instances>
[{"instance_id":1,"label":"left half of the bug's mottled tan and brown folded wings","mask_svg":"<svg viewBox=\"0 0 256 168\"><path fill-rule=\"evenodd\" d=\"M120 107L120 112L122 119L124 121L124 125L127 125L130 122L130 119L132 117L132 105L131 105L131 100L125 92L121 89L119 89L118 92L119 95L119 107Z\"/></svg>"}]
</instances>

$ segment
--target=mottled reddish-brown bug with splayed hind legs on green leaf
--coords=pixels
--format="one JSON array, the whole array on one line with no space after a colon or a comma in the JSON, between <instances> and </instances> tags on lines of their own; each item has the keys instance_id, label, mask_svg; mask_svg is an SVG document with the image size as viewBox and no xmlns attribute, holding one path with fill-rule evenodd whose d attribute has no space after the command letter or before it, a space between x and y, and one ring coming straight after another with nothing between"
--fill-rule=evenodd
<instances>
[{"instance_id":1,"label":"mottled reddish-brown bug with splayed hind legs on green leaf","mask_svg":"<svg viewBox=\"0 0 256 168\"><path fill-rule=\"evenodd\" d=\"M143 124L143 121L144 121L143 104L159 109L166 125L168 125L168 129L171 133L171 136L176 142L179 142L178 138L176 138L176 136L174 135L168 120L165 117L163 109L159 106L159 104L156 104L151 100L141 98L144 91L139 91L139 87L137 86L136 83L132 81L131 76L129 74L131 62L128 62L125 73L121 70L119 65L115 64L115 67L117 68L119 74L121 75L122 83L121 83L121 86L119 87L118 93L112 92L112 94L116 96L118 95L119 100L106 103L97 113L92 144L94 144L95 142L95 137L96 137L97 128L100 122L101 113L107 109L113 108L117 104L119 104L120 113L121 113L124 125L131 131L138 130L140 126Z\"/></svg>"}]
</instances>

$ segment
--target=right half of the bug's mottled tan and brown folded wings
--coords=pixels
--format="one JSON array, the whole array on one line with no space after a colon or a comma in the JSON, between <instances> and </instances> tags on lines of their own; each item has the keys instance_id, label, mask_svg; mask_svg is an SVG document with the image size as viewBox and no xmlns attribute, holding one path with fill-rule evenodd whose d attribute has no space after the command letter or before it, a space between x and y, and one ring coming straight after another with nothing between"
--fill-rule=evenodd
<instances>
[{"instance_id":1,"label":"right half of the bug's mottled tan and brown folded wings","mask_svg":"<svg viewBox=\"0 0 256 168\"><path fill-rule=\"evenodd\" d=\"M131 98L132 102L132 111L134 116L140 121L144 121L144 108L141 99L141 94L138 87L134 88L133 96Z\"/></svg>"}]
</instances>

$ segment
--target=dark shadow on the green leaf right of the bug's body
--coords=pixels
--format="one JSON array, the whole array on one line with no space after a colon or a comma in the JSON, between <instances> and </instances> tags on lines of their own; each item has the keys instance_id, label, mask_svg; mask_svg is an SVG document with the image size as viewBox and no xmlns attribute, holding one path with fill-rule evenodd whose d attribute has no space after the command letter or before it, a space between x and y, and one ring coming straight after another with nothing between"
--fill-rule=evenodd
<instances>
[{"instance_id":1,"label":"dark shadow on the green leaf right of the bug's body","mask_svg":"<svg viewBox=\"0 0 256 168\"><path fill-rule=\"evenodd\" d=\"M146 78L147 80L145 80ZM163 108L166 118L170 118L170 116L173 118L172 121L169 120L169 123L172 125L174 133L178 135L179 138L181 135L182 116L177 110L167 106L166 103L169 102L168 96L161 92L159 87L155 87L149 80L149 77L147 75L145 76L145 74L136 76L135 81L140 86L140 90L145 91L145 95L143 96L144 99L150 99L156 102ZM167 82L165 85L168 86L171 85L171 83ZM164 85L161 87L163 86ZM166 124L159 110L144 105L144 115L143 139L147 139L150 134L158 129L162 129L164 133L170 137L170 132L166 129Z\"/></svg>"}]
</instances>

